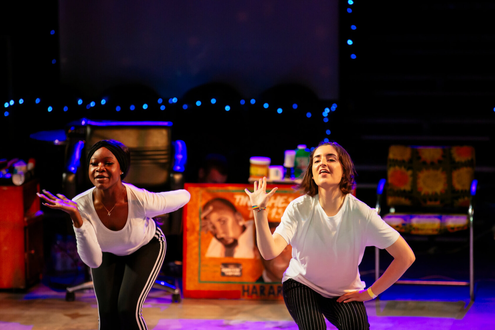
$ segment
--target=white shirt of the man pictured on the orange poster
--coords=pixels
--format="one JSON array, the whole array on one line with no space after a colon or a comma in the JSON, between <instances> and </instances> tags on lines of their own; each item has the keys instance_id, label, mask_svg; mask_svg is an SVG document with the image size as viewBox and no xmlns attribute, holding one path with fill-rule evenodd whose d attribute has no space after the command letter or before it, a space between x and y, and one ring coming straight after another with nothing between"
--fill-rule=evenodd
<instances>
[{"instance_id":1,"label":"white shirt of the man pictured on the orange poster","mask_svg":"<svg viewBox=\"0 0 495 330\"><path fill-rule=\"evenodd\" d=\"M254 258L254 221L246 221L246 230L237 238L237 246L234 248L234 258ZM225 257L225 245L213 237L206 250L206 257L223 258Z\"/></svg>"}]
</instances>

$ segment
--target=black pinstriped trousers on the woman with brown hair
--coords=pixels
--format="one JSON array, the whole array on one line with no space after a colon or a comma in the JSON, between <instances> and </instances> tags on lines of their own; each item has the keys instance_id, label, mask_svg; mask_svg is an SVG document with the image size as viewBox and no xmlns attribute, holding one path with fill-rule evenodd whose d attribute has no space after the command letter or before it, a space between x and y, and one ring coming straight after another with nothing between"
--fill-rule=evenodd
<instances>
[{"instance_id":1,"label":"black pinstriped trousers on the woman with brown hair","mask_svg":"<svg viewBox=\"0 0 495 330\"><path fill-rule=\"evenodd\" d=\"M299 330L325 330L325 319L339 330L369 329L366 308L361 301L337 302L338 297L327 298L293 279L282 285L285 305Z\"/></svg>"}]
</instances>

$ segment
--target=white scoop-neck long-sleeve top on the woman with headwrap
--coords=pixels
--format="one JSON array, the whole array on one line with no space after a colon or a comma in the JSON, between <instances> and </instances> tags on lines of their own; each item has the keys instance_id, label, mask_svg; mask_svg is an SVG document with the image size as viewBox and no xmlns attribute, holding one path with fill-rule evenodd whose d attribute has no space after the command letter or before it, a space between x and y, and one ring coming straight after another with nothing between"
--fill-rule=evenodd
<instances>
[{"instance_id":1,"label":"white scoop-neck long-sleeve top on the woman with headwrap","mask_svg":"<svg viewBox=\"0 0 495 330\"><path fill-rule=\"evenodd\" d=\"M127 189L129 215L124 228L119 231L109 230L99 220L93 204L95 187L72 199L77 203L83 219L80 228L74 227L77 252L81 260L91 268L101 265L101 252L129 255L148 244L156 231L155 222L151 218L178 210L191 198L191 194L184 189L150 192L126 183L124 186Z\"/></svg>"}]
</instances>

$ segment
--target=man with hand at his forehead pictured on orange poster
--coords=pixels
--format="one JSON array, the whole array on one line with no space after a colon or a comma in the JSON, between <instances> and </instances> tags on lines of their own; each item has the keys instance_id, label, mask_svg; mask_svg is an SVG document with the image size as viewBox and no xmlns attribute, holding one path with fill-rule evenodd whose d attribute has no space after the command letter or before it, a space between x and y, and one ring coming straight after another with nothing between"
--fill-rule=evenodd
<instances>
[{"instance_id":1,"label":"man with hand at his forehead pictured on orange poster","mask_svg":"<svg viewBox=\"0 0 495 330\"><path fill-rule=\"evenodd\" d=\"M206 202L201 209L201 228L213 235L206 257L255 257L254 221L246 221L229 200L213 198Z\"/></svg>"}]
</instances>

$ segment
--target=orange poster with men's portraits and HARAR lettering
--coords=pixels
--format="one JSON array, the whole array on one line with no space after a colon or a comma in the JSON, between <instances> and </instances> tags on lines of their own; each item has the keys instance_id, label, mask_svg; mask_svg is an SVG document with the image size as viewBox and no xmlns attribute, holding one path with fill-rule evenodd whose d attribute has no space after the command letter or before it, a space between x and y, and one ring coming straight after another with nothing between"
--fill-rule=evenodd
<instances>
[{"instance_id":1,"label":"orange poster with men's portraits and HARAR lettering","mask_svg":"<svg viewBox=\"0 0 495 330\"><path fill-rule=\"evenodd\" d=\"M270 199L270 230L301 193L289 185ZM186 184L191 201L184 207L183 291L189 298L283 299L282 274L292 247L264 260L256 245L251 203L244 189L252 185ZM264 212L264 211L262 211Z\"/></svg>"}]
</instances>

